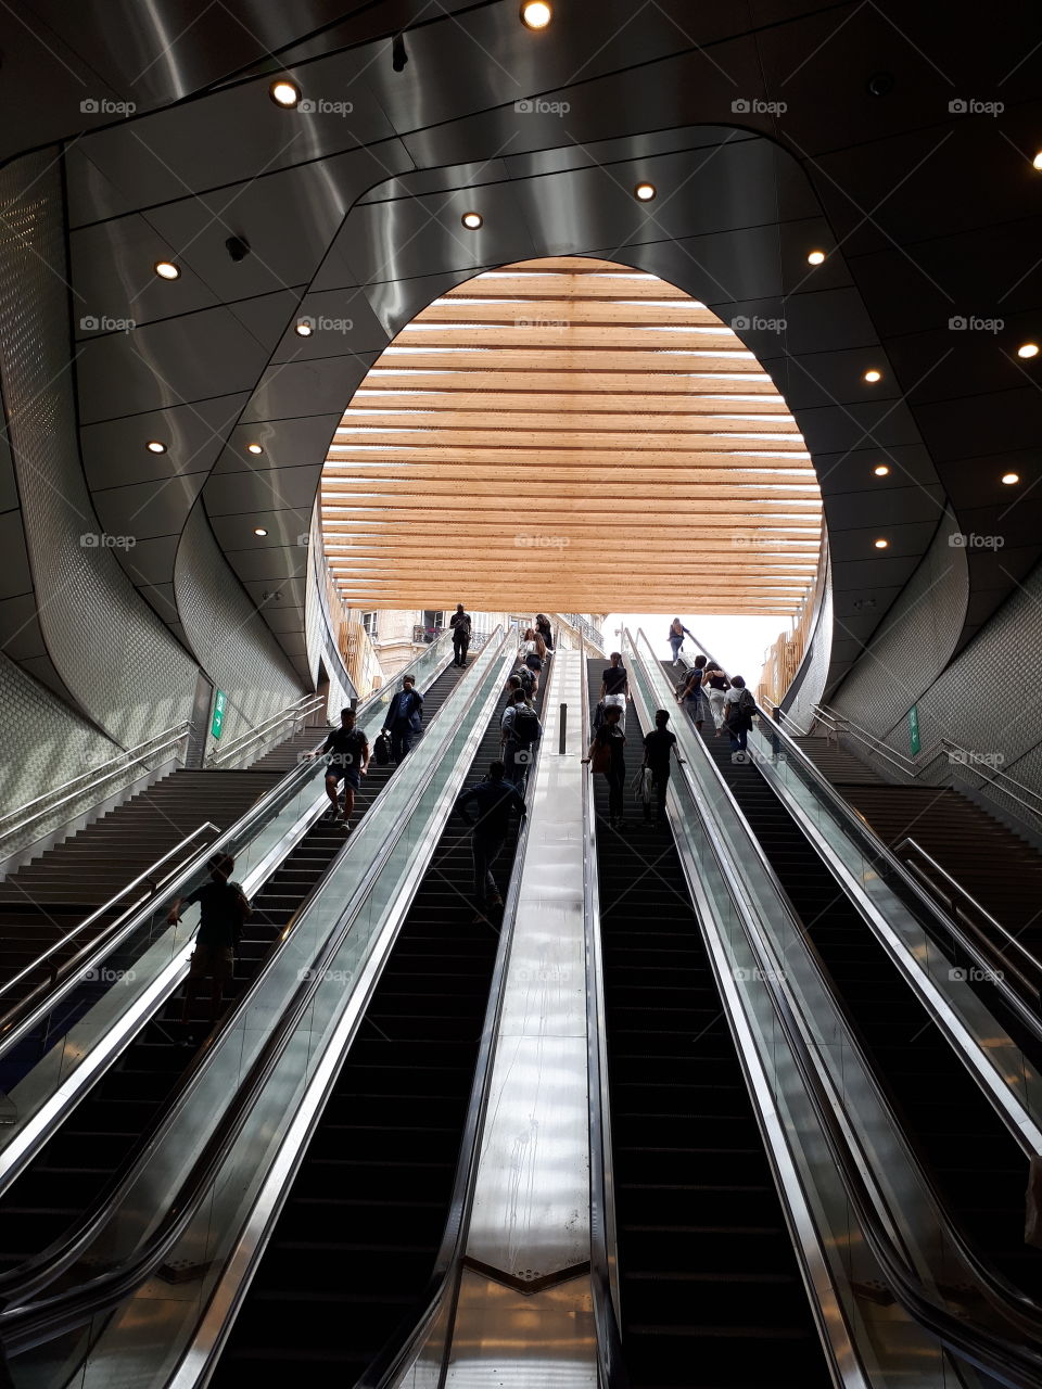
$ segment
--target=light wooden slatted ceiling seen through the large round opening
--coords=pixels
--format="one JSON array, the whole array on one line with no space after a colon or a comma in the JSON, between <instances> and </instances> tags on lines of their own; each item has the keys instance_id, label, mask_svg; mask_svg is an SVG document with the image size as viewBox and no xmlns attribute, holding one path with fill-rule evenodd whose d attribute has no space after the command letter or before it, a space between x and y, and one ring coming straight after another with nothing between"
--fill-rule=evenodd
<instances>
[{"instance_id":1,"label":"light wooden slatted ceiling seen through the large round opening","mask_svg":"<svg viewBox=\"0 0 1042 1389\"><path fill-rule=\"evenodd\" d=\"M704 304L556 257L460 285L395 339L329 447L322 528L352 607L785 617L821 493Z\"/></svg>"}]
</instances>

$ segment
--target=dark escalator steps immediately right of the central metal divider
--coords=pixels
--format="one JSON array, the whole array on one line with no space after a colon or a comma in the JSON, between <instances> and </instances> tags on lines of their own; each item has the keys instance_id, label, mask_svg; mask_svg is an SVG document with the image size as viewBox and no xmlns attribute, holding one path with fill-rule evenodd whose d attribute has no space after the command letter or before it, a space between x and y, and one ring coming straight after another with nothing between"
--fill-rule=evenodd
<instances>
[{"instance_id":1,"label":"dark escalator steps immediately right of the central metal divider","mask_svg":"<svg viewBox=\"0 0 1042 1389\"><path fill-rule=\"evenodd\" d=\"M590 706L602 664L589 665ZM627 714L629 774L642 731ZM632 1389L831 1383L668 829L593 778L618 1231Z\"/></svg>"}]
</instances>

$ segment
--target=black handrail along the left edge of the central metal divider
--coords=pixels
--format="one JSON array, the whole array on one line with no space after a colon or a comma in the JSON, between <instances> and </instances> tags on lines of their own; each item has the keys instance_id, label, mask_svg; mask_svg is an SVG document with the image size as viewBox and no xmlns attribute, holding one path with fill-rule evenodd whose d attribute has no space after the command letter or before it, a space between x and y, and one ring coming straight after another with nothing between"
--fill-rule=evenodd
<instances>
[{"instance_id":1,"label":"black handrail along the left edge of the central metal divider","mask_svg":"<svg viewBox=\"0 0 1042 1389\"><path fill-rule=\"evenodd\" d=\"M511 638L513 632L507 632ZM546 685L543 701L546 700ZM542 721L540 721L542 722ZM528 783L539 770L539 758L543 751L543 739L536 745L535 761L528 770ZM510 871L510 883L503 901L503 921L500 925L499 946L496 960L492 967L492 981L489 983L489 1001L482 1024L478 1060L474 1068L474 1081L467 1106L467 1117L463 1125L460 1140L460 1156L456 1164L456 1178L449 1201L449 1215L445 1222L442 1242L438 1246L435 1264L422 1293L417 1297L413 1308L406 1313L393 1333L377 1357L370 1361L363 1375L356 1381L353 1389L389 1389L395 1375L403 1363L424 1339L435 1313L445 1303L446 1296L452 1297L453 1307L458 1299L460 1279L464 1268L464 1250L467 1231L470 1225L470 1211L474 1201L474 1189L478 1178L478 1158L481 1156L481 1136L485 1126L485 1114L492 1093L492 1072L496 1054L496 1038L506 1007L506 981L510 967L510 953L514 946L514 921L517 917L517 903L521 895L521 878L524 875L525 853L528 850L528 815L521 821L514 845L514 864ZM449 1325L452 1325L452 1317Z\"/></svg>"}]
</instances>

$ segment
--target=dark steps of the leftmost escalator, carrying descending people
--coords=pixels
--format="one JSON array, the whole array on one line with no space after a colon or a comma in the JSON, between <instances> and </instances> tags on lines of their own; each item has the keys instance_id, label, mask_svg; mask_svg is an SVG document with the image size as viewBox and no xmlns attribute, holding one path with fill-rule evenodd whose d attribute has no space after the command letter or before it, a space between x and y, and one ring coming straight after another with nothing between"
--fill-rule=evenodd
<instances>
[{"instance_id":1,"label":"dark steps of the leftmost escalator, carrying descending people","mask_svg":"<svg viewBox=\"0 0 1042 1389\"><path fill-rule=\"evenodd\" d=\"M463 675L449 667L424 699L425 724ZM310 735L314 747L321 729ZM356 797L354 822L377 799L393 767L370 763ZM247 774L243 774L247 775ZM315 782L318 793L320 782ZM236 951L235 976L225 986L228 1008L258 975L272 946L345 843L340 825L317 820L253 899L253 914ZM196 1000L189 1029L181 1024L182 993L167 999L119 1060L43 1145L0 1197L0 1272L49 1247L93 1207L114 1174L122 1172L179 1092L196 1042L210 1031L208 988Z\"/></svg>"}]
</instances>

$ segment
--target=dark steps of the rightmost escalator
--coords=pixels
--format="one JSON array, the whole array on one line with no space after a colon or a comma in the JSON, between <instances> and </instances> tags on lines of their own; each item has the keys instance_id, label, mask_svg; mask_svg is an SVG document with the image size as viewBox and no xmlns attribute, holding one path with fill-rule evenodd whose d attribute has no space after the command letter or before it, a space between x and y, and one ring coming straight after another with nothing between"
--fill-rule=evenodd
<instances>
[{"instance_id":1,"label":"dark steps of the rightmost escalator","mask_svg":"<svg viewBox=\"0 0 1042 1389\"><path fill-rule=\"evenodd\" d=\"M1042 1297L1042 1254L1024 1245L1020 1145L756 765L734 763L729 739L709 726L703 740L952 1218L978 1254Z\"/></svg>"}]
</instances>

